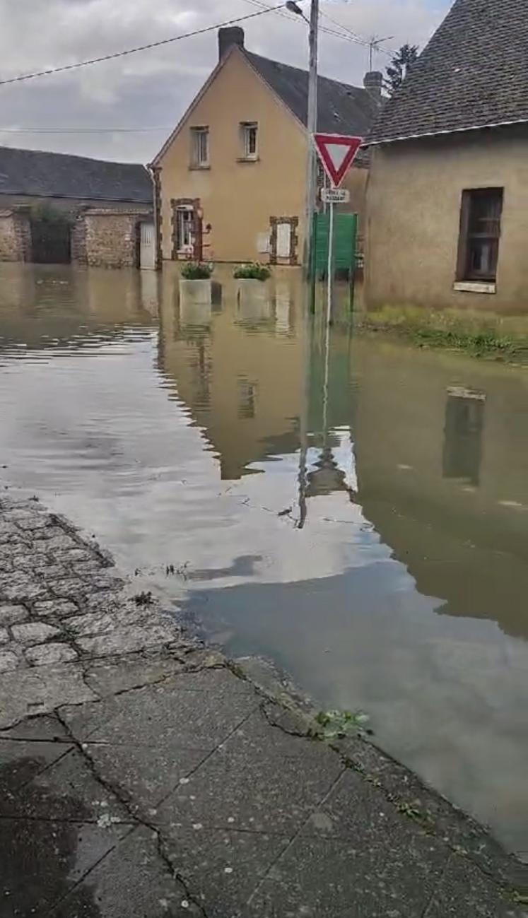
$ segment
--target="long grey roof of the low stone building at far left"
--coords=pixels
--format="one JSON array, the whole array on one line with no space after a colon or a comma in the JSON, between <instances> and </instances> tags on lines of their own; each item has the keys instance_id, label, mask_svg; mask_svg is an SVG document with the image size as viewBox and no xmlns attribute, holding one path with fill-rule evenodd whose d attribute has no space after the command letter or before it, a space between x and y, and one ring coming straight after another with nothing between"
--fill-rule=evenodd
<instances>
[{"instance_id":1,"label":"long grey roof of the low stone building at far left","mask_svg":"<svg viewBox=\"0 0 528 918\"><path fill-rule=\"evenodd\" d=\"M0 200L2 195L151 204L152 181L145 167L134 163L0 147Z\"/></svg>"}]
</instances>

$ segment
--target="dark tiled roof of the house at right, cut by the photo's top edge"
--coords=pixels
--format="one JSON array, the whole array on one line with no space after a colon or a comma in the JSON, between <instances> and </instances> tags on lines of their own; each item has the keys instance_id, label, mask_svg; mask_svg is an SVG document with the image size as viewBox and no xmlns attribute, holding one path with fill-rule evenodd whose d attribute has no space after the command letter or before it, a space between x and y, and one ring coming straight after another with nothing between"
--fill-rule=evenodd
<instances>
[{"instance_id":1,"label":"dark tiled roof of the house at right, cut by the photo's top edge","mask_svg":"<svg viewBox=\"0 0 528 918\"><path fill-rule=\"evenodd\" d=\"M374 142L528 121L528 0L455 0Z\"/></svg>"}]
</instances>

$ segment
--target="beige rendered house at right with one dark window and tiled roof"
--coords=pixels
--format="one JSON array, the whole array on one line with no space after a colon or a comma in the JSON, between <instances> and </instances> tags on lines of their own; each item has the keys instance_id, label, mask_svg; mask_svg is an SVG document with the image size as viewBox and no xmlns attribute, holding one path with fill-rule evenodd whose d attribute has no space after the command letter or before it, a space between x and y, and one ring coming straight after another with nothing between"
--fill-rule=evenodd
<instances>
[{"instance_id":1,"label":"beige rendered house at right with one dark window and tiled roof","mask_svg":"<svg viewBox=\"0 0 528 918\"><path fill-rule=\"evenodd\" d=\"M455 0L369 137L367 306L528 310L525 0Z\"/></svg>"}]
</instances>

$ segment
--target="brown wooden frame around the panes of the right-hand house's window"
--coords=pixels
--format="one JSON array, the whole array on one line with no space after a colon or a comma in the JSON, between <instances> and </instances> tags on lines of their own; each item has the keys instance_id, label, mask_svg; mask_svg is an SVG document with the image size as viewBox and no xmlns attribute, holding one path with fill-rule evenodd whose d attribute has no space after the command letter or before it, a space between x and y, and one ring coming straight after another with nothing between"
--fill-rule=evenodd
<instances>
[{"instance_id":1,"label":"brown wooden frame around the panes of the right-hand house's window","mask_svg":"<svg viewBox=\"0 0 528 918\"><path fill-rule=\"evenodd\" d=\"M495 220L497 227L495 232L476 232L471 227L471 209L478 197L496 196L499 200L498 216L488 218L488 221ZM499 263L500 250L500 224L502 218L502 207L504 203L504 189L499 186L486 188L465 188L462 192L460 203L460 226L458 233L458 253L456 259L456 281L468 282L473 284L495 284L497 280L497 268ZM484 218L481 218L484 219ZM493 270L491 272L478 272L471 269L469 264L469 255L471 252L472 242L475 241L491 242L494 247Z\"/></svg>"}]
</instances>

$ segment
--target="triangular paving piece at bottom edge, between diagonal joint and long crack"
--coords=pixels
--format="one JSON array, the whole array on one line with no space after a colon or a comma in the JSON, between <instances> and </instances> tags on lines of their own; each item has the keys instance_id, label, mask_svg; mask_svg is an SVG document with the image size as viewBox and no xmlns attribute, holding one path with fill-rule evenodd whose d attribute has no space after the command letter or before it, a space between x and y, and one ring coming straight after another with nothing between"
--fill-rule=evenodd
<instances>
[{"instance_id":1,"label":"triangular paving piece at bottom edge, between diagonal joint and long crack","mask_svg":"<svg viewBox=\"0 0 528 918\"><path fill-rule=\"evenodd\" d=\"M159 855L155 835L129 834L52 912L52 918L197 918L190 901Z\"/></svg>"}]
</instances>

